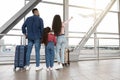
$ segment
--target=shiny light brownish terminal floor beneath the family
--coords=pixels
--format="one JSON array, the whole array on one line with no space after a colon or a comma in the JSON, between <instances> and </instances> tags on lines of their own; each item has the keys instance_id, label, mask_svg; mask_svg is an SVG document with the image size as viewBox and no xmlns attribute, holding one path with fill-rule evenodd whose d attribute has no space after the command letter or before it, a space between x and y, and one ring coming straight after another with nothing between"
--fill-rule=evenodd
<instances>
[{"instance_id":1,"label":"shiny light brownish terminal floor beneath the family","mask_svg":"<svg viewBox=\"0 0 120 80\"><path fill-rule=\"evenodd\" d=\"M45 64L42 64L45 66ZM0 65L0 80L120 80L120 59L79 61L62 70L13 71L13 65Z\"/></svg>"}]
</instances>

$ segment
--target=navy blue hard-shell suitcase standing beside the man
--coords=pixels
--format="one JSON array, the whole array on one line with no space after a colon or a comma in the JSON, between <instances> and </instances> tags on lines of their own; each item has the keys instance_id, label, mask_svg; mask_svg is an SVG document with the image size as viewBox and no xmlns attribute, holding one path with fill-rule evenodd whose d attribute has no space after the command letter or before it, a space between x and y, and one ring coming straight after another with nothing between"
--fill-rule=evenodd
<instances>
[{"instance_id":1,"label":"navy blue hard-shell suitcase standing beside the man","mask_svg":"<svg viewBox=\"0 0 120 80\"><path fill-rule=\"evenodd\" d=\"M17 67L24 68L24 66L26 65L26 52L27 52L27 46L24 45L16 46L14 70L16 70Z\"/></svg>"}]
</instances>

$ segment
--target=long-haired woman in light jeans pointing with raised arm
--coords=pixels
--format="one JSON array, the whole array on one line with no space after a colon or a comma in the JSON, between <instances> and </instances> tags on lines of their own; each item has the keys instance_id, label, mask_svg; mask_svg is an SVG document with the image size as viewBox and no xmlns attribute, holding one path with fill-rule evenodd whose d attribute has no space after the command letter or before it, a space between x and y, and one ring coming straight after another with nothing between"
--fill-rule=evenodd
<instances>
[{"instance_id":1,"label":"long-haired woman in light jeans pointing with raised arm","mask_svg":"<svg viewBox=\"0 0 120 80\"><path fill-rule=\"evenodd\" d=\"M65 38L65 25L72 19L72 17L65 21L61 21L60 15L55 15L53 18L52 29L57 36L56 45L56 57L58 62L58 68L63 68L64 64L64 51L66 48L66 38Z\"/></svg>"}]
</instances>

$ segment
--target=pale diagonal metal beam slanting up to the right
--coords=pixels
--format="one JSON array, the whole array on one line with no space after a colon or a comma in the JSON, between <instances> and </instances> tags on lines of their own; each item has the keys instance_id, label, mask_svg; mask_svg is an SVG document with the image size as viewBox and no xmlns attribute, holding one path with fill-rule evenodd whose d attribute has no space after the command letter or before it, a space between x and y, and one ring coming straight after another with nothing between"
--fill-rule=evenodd
<instances>
[{"instance_id":1,"label":"pale diagonal metal beam slanting up to the right","mask_svg":"<svg viewBox=\"0 0 120 80\"><path fill-rule=\"evenodd\" d=\"M109 2L109 4L107 5L107 7L105 8L105 10L101 13L101 15L99 16L98 19L96 19L95 23L93 24L93 26L89 29L89 31L86 33L86 35L83 37L83 39L81 40L81 42L79 43L79 45L75 48L75 52L77 50L77 52L80 52L80 49L83 48L83 46L85 45L85 43L88 41L88 39L90 38L90 36L96 31L98 25L100 24L100 22L103 20L103 18L105 17L105 15L107 14L107 12L111 9L111 7L113 6L113 4L115 3L116 0L111 0Z\"/></svg>"}]
</instances>

